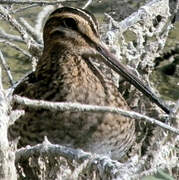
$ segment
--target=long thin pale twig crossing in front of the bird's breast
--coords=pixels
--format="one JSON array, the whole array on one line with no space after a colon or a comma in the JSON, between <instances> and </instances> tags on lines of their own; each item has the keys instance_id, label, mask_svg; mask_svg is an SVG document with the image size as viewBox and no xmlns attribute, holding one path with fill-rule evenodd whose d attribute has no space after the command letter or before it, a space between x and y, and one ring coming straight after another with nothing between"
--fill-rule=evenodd
<instances>
[{"instance_id":1,"label":"long thin pale twig crossing in front of the bird's breast","mask_svg":"<svg viewBox=\"0 0 179 180\"><path fill-rule=\"evenodd\" d=\"M157 126L160 126L164 129L167 129L173 133L179 134L179 129L176 129L174 127L168 126L167 124L164 124L156 119L150 118L148 116L136 113L134 111L125 111L120 108L115 107L109 107L109 106L96 106L96 105L87 105L87 104L80 104L80 103L68 103L68 102L48 102L43 100L31 100L25 97L17 96L15 95L14 101L29 106L32 108L44 108L51 111L73 111L73 112L96 112L96 113L104 113L104 112L110 112L110 113L117 113L121 114L122 116L129 117L132 119L137 120L145 120L152 124L155 124Z\"/></svg>"}]
</instances>

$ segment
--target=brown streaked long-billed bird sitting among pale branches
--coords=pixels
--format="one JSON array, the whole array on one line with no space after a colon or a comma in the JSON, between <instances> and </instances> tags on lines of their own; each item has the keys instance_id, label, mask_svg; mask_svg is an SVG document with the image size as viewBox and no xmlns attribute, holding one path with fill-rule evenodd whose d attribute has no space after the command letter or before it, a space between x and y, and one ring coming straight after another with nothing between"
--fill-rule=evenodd
<instances>
[{"instance_id":1,"label":"brown streaked long-billed bird sitting among pale branches","mask_svg":"<svg viewBox=\"0 0 179 180\"><path fill-rule=\"evenodd\" d=\"M50 102L77 102L130 110L112 80L106 80L90 57L122 75L168 112L155 95L110 53L100 40L98 22L87 10L61 7L53 11L43 28L44 49L36 70L17 85L14 95ZM43 142L80 148L120 159L135 141L135 120L119 114L51 112L22 105L25 115L9 128L18 147Z\"/></svg>"}]
</instances>

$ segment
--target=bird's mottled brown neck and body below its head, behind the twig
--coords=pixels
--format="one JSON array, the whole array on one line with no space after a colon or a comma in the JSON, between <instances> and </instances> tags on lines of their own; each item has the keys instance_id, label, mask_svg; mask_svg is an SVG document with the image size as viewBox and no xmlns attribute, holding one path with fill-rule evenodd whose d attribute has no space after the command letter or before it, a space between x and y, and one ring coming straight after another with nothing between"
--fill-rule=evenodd
<instances>
[{"instance_id":1,"label":"bird's mottled brown neck and body below its head, behind the twig","mask_svg":"<svg viewBox=\"0 0 179 180\"><path fill-rule=\"evenodd\" d=\"M22 82L15 94L39 100L128 109L117 88L101 82L80 57L55 57L54 54L49 63L39 65L34 78L31 75ZM116 158L121 157L134 140L134 121L117 114L21 108L26 110L25 116L10 128L11 137L20 136L19 146L37 144L47 136L52 143L96 153L111 152Z\"/></svg>"}]
</instances>

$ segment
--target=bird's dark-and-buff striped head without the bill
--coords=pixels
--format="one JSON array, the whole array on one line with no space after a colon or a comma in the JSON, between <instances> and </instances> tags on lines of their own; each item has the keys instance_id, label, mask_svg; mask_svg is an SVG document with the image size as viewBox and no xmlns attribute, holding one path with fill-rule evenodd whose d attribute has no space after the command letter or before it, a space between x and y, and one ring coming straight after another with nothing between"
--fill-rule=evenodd
<instances>
[{"instance_id":1,"label":"bird's dark-and-buff striped head without the bill","mask_svg":"<svg viewBox=\"0 0 179 180\"><path fill-rule=\"evenodd\" d=\"M62 7L52 12L44 26L44 47L59 44L76 55L94 53L101 44L96 18L86 10Z\"/></svg>"}]
</instances>

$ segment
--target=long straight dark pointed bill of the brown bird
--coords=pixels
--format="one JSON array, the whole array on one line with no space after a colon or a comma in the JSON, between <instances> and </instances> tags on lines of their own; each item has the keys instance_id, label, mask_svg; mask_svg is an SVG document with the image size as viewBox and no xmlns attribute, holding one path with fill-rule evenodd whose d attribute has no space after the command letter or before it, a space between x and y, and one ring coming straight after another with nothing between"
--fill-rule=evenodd
<instances>
[{"instance_id":1,"label":"long straight dark pointed bill of the brown bird","mask_svg":"<svg viewBox=\"0 0 179 180\"><path fill-rule=\"evenodd\" d=\"M152 102L157 104L167 114L170 113L170 109L164 104L152 91L126 66L121 64L114 55L103 45L97 45L96 50L104 57L104 63L112 68L115 72L123 76L127 81L134 85L139 91L145 94Z\"/></svg>"}]
</instances>

